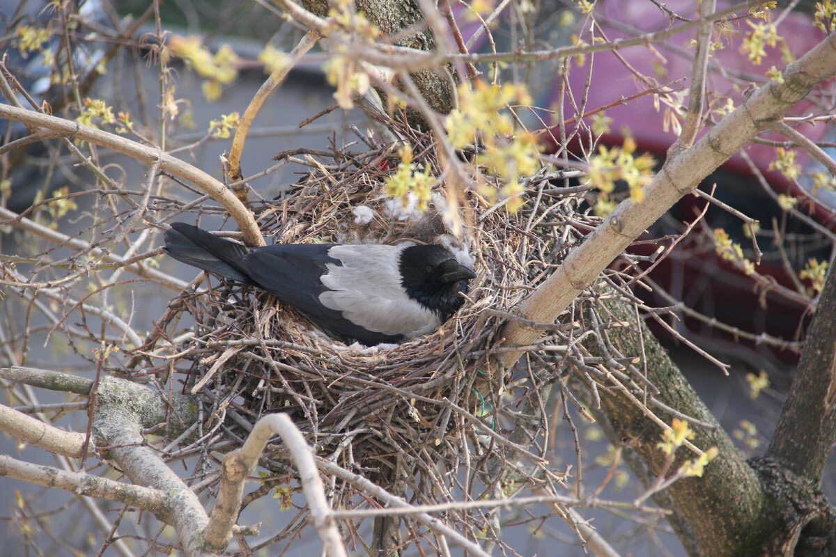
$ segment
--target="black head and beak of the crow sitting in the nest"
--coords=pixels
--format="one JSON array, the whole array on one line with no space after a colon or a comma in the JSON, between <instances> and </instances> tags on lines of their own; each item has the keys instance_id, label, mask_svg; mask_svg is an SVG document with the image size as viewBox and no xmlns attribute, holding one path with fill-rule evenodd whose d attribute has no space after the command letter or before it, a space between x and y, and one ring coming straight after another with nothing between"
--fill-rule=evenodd
<instances>
[{"instance_id":1,"label":"black head and beak of the crow sitting in the nest","mask_svg":"<svg viewBox=\"0 0 836 557\"><path fill-rule=\"evenodd\" d=\"M476 274L441 246L409 246L400 253L400 284L413 300L446 321L464 303L459 292Z\"/></svg>"}]
</instances>

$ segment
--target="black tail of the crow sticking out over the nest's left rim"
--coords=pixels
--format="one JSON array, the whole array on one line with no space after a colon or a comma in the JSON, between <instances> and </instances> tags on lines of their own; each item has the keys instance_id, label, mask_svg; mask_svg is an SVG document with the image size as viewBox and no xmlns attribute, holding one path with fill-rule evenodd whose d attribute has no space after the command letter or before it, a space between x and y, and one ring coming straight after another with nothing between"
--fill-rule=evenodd
<instances>
[{"instance_id":1,"label":"black tail of the crow sticking out over the nest's left rim","mask_svg":"<svg viewBox=\"0 0 836 557\"><path fill-rule=\"evenodd\" d=\"M252 284L244 256L247 246L217 238L185 222L173 222L164 235L166 252L177 261L233 281Z\"/></svg>"}]
</instances>

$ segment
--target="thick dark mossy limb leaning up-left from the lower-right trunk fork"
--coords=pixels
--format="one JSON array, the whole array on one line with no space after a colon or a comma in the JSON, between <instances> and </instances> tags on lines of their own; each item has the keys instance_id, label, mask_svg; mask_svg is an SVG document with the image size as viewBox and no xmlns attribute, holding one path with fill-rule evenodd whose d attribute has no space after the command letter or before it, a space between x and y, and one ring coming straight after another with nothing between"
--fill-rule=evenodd
<instances>
[{"instance_id":1,"label":"thick dark mossy limb leaning up-left from the lower-right trunk fork","mask_svg":"<svg viewBox=\"0 0 836 557\"><path fill-rule=\"evenodd\" d=\"M730 555L743 540L747 542L744 547L758 547L758 542L772 534L774 524L764 516L766 503L757 473L749 467L645 322L636 320L632 306L625 301L606 303L614 318L630 324L630 327L610 329L607 333L610 341L619 352L628 354L640 353L641 344L644 344L647 379L660 389L655 397L668 407L709 424L710 428L693 427L696 433L693 442L700 448L716 447L719 450L718 456L706 466L702 478L680 479L665 489L665 498L675 514L670 524L678 535L697 540L700 555ZM657 478L665 468L665 453L657 447L661 439L659 426L645 417L635 403L618 393L601 392L601 410L608 422L604 431L611 435L612 442L631 448L648 468L646 472L641 471L640 477ZM671 418L665 416L668 421ZM678 468L684 458L692 456L684 451L677 455L672 469ZM683 525L690 531L682 531Z\"/></svg>"}]
</instances>

